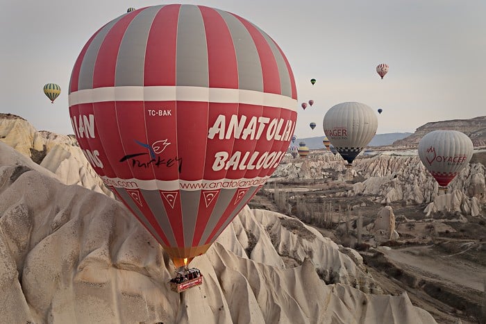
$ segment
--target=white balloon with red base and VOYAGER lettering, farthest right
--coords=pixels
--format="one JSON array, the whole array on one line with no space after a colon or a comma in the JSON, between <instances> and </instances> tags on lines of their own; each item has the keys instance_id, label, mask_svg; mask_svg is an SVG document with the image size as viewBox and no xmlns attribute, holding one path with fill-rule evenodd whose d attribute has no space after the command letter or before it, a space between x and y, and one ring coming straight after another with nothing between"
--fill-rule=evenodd
<instances>
[{"instance_id":1,"label":"white balloon with red base and VOYAGER lettering, farthest right","mask_svg":"<svg viewBox=\"0 0 486 324\"><path fill-rule=\"evenodd\" d=\"M445 191L471 160L473 142L457 130L434 130L422 137L418 150L420 160L439 183L439 189Z\"/></svg>"}]
</instances>

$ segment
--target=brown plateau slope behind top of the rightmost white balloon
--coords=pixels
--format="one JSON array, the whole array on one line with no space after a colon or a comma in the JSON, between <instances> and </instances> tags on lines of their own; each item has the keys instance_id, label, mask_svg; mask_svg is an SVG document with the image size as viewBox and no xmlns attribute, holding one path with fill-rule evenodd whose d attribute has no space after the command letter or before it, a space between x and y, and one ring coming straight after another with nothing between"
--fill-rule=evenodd
<instances>
[{"instance_id":1,"label":"brown plateau slope behind top of the rightmost white balloon","mask_svg":"<svg viewBox=\"0 0 486 324\"><path fill-rule=\"evenodd\" d=\"M486 146L486 116L473 119L454 119L426 123L415 130L415 133L394 142L394 146L417 147L420 139L433 130L458 130L471 138L475 147Z\"/></svg>"}]
</instances>

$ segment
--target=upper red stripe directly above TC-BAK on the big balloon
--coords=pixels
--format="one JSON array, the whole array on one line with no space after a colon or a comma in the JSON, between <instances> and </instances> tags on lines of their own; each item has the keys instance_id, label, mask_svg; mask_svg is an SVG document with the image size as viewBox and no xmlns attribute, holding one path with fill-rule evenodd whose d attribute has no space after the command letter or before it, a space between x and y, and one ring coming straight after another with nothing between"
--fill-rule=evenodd
<instances>
[{"instance_id":1,"label":"upper red stripe directly above TC-BAK on the big balloon","mask_svg":"<svg viewBox=\"0 0 486 324\"><path fill-rule=\"evenodd\" d=\"M146 44L144 85L176 85L176 41L180 4L163 6Z\"/></svg>"}]
</instances>

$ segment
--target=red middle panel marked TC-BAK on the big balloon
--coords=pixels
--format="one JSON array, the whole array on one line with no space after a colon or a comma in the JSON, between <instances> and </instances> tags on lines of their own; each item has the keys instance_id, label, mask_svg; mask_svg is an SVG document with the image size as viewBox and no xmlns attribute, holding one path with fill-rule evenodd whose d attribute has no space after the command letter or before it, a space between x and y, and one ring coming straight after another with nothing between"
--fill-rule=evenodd
<instances>
[{"instance_id":1,"label":"red middle panel marked TC-BAK on the big balloon","mask_svg":"<svg viewBox=\"0 0 486 324\"><path fill-rule=\"evenodd\" d=\"M176 101L145 101L144 110L148 144L160 162L153 168L155 178L178 180Z\"/></svg>"}]
</instances>

